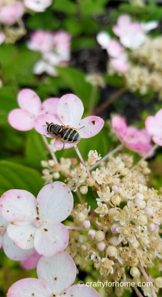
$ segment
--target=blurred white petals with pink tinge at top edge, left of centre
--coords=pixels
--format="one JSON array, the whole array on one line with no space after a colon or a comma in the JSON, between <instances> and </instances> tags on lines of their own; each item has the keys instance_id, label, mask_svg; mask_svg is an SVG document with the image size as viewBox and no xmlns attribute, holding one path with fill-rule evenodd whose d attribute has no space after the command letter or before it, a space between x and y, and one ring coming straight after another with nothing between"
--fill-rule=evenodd
<instances>
[{"instance_id":1,"label":"blurred white petals with pink tinge at top edge, left of centre","mask_svg":"<svg viewBox=\"0 0 162 297\"><path fill-rule=\"evenodd\" d=\"M52 4L52 0L24 0L23 3L27 8L33 11L43 12Z\"/></svg>"}]
</instances>

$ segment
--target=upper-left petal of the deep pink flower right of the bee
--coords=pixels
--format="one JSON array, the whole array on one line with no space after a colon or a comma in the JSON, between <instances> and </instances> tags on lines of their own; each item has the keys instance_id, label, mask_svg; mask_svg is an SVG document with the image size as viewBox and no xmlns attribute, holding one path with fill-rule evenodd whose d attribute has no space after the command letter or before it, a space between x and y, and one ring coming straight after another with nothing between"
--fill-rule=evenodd
<instances>
[{"instance_id":1,"label":"upper-left petal of the deep pink flower right of the bee","mask_svg":"<svg viewBox=\"0 0 162 297\"><path fill-rule=\"evenodd\" d=\"M111 121L112 127L119 137L123 137L127 132L127 124L121 116L114 116Z\"/></svg>"}]
</instances>

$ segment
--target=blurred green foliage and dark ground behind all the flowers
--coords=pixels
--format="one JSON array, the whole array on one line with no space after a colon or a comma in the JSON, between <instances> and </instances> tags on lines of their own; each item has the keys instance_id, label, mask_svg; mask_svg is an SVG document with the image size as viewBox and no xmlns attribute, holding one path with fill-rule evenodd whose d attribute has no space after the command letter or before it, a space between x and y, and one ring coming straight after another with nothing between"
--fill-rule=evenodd
<instances>
[{"instance_id":1,"label":"blurred green foliage and dark ground behind all the flowers","mask_svg":"<svg viewBox=\"0 0 162 297\"><path fill-rule=\"evenodd\" d=\"M96 34L105 30L111 33L112 26L122 13L129 13L134 20L158 20L158 29L153 34L161 34L162 6L149 1L144 7L134 7L130 3L108 0L54 0L51 7L45 12L25 15L24 23L27 34L16 44L0 46L0 195L12 188L26 189L37 195L43 186L41 177L41 160L49 159L42 137L33 130L20 132L7 122L10 110L18 107L17 93L24 87L32 88L41 100L48 97L60 97L66 93L76 94L84 104L85 116L92 114L102 116L106 124L102 131L93 138L82 139L78 147L84 159L90 149L96 149L103 157L114 148L118 142L110 135L108 120L111 113L125 116L128 123L135 123L144 127L144 120L162 108L155 93L150 91L141 96L137 92L132 94L120 90L124 87L123 81L117 75L106 74L107 53L96 42ZM56 31L65 29L72 35L71 61L68 67L57 67L58 77L46 74L36 76L32 73L34 63L40 54L26 48L26 41L32 31L37 29ZM87 73L101 73L106 82L105 88L93 87L86 81ZM115 100L111 96L119 92ZM117 93L118 94L118 93ZM90 98L92 102L90 103ZM98 108L103 102L110 100L111 104L99 113ZM91 104L91 105L90 105ZM92 107L92 109L90 109ZM125 149L125 151L129 151ZM130 154L133 154L130 152ZM56 157L76 157L74 149L57 151ZM134 154L135 162L139 156ZM162 187L162 154L161 148L150 161L152 174L150 186L159 189ZM75 196L75 194L74 194ZM89 204L93 205L93 193L88 192ZM76 198L75 198L76 199ZM89 268L90 269L90 268ZM95 274L91 271L91 274ZM157 271L152 274L158 276ZM23 277L36 277L36 270L24 271L19 263L8 259L3 250L0 250L0 296L5 296L9 286ZM80 279L85 275L80 274ZM97 278L97 276L95 276ZM103 292L100 292L104 296ZM114 294L111 294L113 296ZM125 291L124 297L130 296ZM160 295L159 295L160 296Z\"/></svg>"}]
</instances>

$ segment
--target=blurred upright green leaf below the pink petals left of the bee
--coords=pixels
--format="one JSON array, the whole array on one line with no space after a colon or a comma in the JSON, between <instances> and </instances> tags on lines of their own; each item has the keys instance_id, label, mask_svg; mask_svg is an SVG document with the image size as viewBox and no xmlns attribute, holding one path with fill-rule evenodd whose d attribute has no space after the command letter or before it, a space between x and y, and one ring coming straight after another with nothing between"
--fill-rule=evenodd
<instances>
[{"instance_id":1,"label":"blurred upright green leaf below the pink petals left of the bee","mask_svg":"<svg viewBox=\"0 0 162 297\"><path fill-rule=\"evenodd\" d=\"M26 162L28 165L41 170L41 160L47 160L47 149L43 143L42 135L32 129L26 143Z\"/></svg>"}]
</instances>

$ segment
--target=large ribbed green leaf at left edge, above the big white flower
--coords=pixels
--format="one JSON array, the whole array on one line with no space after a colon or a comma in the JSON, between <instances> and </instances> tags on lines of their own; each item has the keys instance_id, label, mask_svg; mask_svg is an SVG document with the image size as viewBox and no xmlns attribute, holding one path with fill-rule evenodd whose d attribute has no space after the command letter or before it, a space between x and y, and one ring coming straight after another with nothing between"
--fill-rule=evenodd
<instances>
[{"instance_id":1,"label":"large ribbed green leaf at left edge, above the big white flower","mask_svg":"<svg viewBox=\"0 0 162 297\"><path fill-rule=\"evenodd\" d=\"M0 195L10 189L23 189L37 196L42 187L43 179L37 170L0 161Z\"/></svg>"}]
</instances>

